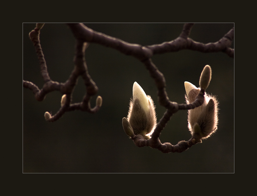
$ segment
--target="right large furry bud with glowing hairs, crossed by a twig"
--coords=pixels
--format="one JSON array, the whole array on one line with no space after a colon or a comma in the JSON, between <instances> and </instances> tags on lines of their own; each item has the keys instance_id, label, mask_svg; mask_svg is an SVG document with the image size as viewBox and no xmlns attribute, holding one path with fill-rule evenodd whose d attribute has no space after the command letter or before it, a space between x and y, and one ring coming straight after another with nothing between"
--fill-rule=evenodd
<instances>
[{"instance_id":1,"label":"right large furry bud with glowing hairs, crossed by a twig","mask_svg":"<svg viewBox=\"0 0 257 196\"><path fill-rule=\"evenodd\" d=\"M189 82L185 82L186 103L192 103L200 92L200 88ZM188 128L191 135L198 142L206 139L217 130L218 124L218 101L215 96L205 94L204 103L194 109L188 110Z\"/></svg>"}]
</instances>

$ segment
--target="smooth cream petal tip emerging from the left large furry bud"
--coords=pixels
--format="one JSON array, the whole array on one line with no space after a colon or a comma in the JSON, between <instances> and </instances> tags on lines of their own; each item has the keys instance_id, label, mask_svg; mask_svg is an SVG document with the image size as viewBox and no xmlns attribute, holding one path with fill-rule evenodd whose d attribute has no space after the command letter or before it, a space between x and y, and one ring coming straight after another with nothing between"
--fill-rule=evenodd
<instances>
[{"instance_id":1,"label":"smooth cream petal tip emerging from the left large furry bud","mask_svg":"<svg viewBox=\"0 0 257 196\"><path fill-rule=\"evenodd\" d=\"M150 108L148 97L145 94L142 87L139 86L137 82L134 82L133 84L133 99L134 100L138 99L144 111L148 113Z\"/></svg>"}]
</instances>

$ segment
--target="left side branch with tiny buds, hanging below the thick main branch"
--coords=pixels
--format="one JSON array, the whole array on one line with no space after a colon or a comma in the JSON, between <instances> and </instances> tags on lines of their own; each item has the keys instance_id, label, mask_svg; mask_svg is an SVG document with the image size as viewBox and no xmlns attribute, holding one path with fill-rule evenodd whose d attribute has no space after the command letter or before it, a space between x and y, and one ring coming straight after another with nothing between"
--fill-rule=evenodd
<instances>
[{"instance_id":1,"label":"left side branch with tiny buds, hanging below the thick main branch","mask_svg":"<svg viewBox=\"0 0 257 196\"><path fill-rule=\"evenodd\" d=\"M55 115L51 115L50 113L46 112L46 120L49 122L56 121L59 119L65 112L72 111L75 109L82 110L82 111L88 111L90 113L96 113L101 105L102 105L102 98L100 96L97 97L97 105L92 109L90 106L90 99L93 95L95 95L98 91L98 87L94 83L94 81L91 79L90 75L88 74L87 65L84 57L85 50L88 46L87 43L81 40L77 40L76 42L76 53L74 58L75 67L72 71L69 79L65 83L58 83L54 82L50 79L46 61L43 55L43 51L40 45L40 29L43 27L43 25L38 27L39 25L36 25L36 28L30 32L30 39L34 44L34 47L36 49L36 54L38 56L40 67L41 67L41 74L43 76L44 85L43 88L40 90L34 83L23 80L23 86L25 88L28 88L33 91L36 100L42 101L46 97L46 94L49 92L52 92L54 90L60 91L62 94L65 95L65 103L64 105L59 109L59 111ZM77 84L78 77L81 76L84 80L85 86L87 87L87 93L82 99L81 103L74 103L71 104L72 100L72 93L74 91L74 88Z\"/></svg>"}]
</instances>

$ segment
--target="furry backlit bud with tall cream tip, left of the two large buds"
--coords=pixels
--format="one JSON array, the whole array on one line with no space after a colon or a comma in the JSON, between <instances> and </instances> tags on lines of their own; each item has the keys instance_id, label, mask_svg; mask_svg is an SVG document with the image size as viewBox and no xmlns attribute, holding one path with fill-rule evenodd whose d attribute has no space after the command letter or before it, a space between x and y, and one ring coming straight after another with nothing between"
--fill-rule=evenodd
<instances>
[{"instance_id":1,"label":"furry backlit bud with tall cream tip, left of the two large buds","mask_svg":"<svg viewBox=\"0 0 257 196\"><path fill-rule=\"evenodd\" d=\"M149 139L157 124L155 106L151 96L146 95L137 82L133 85L133 98L129 105L127 119L133 133Z\"/></svg>"}]
</instances>

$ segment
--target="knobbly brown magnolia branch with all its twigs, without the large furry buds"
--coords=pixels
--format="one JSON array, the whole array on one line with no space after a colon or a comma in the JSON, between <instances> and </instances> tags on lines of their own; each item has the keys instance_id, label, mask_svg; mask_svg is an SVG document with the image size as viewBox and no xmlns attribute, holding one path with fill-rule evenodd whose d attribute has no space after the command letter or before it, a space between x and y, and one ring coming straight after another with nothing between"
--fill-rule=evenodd
<instances>
[{"instance_id":1,"label":"knobbly brown magnolia branch with all its twigs, without the large furry buds","mask_svg":"<svg viewBox=\"0 0 257 196\"><path fill-rule=\"evenodd\" d=\"M161 143L160 142L160 134L161 131L166 126L167 122L170 120L171 116L176 113L178 110L187 109L192 110L195 108L204 108L207 104L206 101L209 101L211 98L205 94L206 84L209 83L208 80L204 81L204 85L206 87L197 89L193 97L192 103L187 104L178 104L176 102L170 101L167 92L166 92L166 81L163 74L158 70L158 68L154 65L151 60L151 57L155 54L163 54L169 52L176 52L181 50L192 50L199 51L203 53L211 53L211 52L224 52L229 57L234 57L234 49L231 48L233 39L234 39L234 28L232 28L227 34L225 34L220 40L214 43L200 43L189 38L190 32L193 27L193 23L186 23L183 26L182 32L179 37L172 41L163 42L161 44L154 44L148 46L142 46L139 44L130 44L118 38L113 38L106 34L94 31L82 23L68 23L67 24L71 29L71 32L76 39L76 51L74 58L74 69L65 83L58 83L52 81L49 77L47 71L46 61L44 59L43 51L40 45L40 29L43 27L42 24L37 24L36 28L30 32L30 39L34 44L36 49L36 54L39 59L41 74L44 80L43 88L40 90L35 84L30 81L23 80L23 86L32 90L35 95L36 100L42 101L44 100L47 93L52 92L54 90L60 91L63 94L61 100L61 108L55 115L51 115L46 112L45 117L46 120L53 122L59 119L65 112L73 111L73 110L82 110L87 111L89 113L96 113L101 105L102 98L100 96L97 97L97 104L94 108L90 106L91 97L94 96L98 87L96 83L90 77L86 60L85 60L85 50L87 49L89 43L96 43L103 45L105 47L110 47L116 49L117 51L137 58L141 61L146 69L149 71L150 76L154 79L155 85L157 87L157 96L158 102L161 106L166 108L166 112L163 114L156 128L154 129L151 138L146 139L144 136L138 134L135 135L133 132L133 128L130 125L129 121L126 118L122 119L122 125L128 136L134 141L135 145L138 147L150 146L151 148L159 149L161 152L169 153L169 152L183 152L190 148L192 145L196 143L200 143L201 139L205 139L205 136L202 134L202 126L199 123L192 125L192 138L186 141L178 142L177 145L172 145L170 143ZM211 75L210 67L205 69L205 72L209 72ZM203 71L204 73L204 71ZM209 75L207 76L209 77ZM72 102L72 93L74 88L78 82L78 77L82 77L84 80L84 85L86 86L86 93L80 103L71 103ZM207 78L208 78L207 77ZM205 78L205 77L204 77ZM211 78L209 77L209 80ZM201 84L200 84L201 86ZM192 95L188 95L192 96ZM213 100L213 99L211 99ZM208 105L208 111L215 111L212 106L216 106L215 104ZM211 130L211 132L216 129ZM210 134L210 133L209 133ZM207 136L208 137L208 136Z\"/></svg>"}]
</instances>

